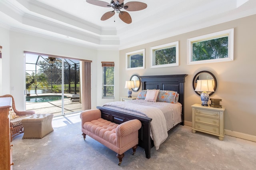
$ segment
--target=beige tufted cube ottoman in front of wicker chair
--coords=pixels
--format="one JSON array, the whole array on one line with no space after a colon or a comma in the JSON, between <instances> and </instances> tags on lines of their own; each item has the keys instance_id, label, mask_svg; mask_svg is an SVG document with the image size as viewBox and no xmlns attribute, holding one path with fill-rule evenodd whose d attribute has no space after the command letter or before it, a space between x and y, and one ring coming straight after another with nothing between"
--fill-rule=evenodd
<instances>
[{"instance_id":1,"label":"beige tufted cube ottoman in front of wicker chair","mask_svg":"<svg viewBox=\"0 0 256 170\"><path fill-rule=\"evenodd\" d=\"M53 114L34 114L22 119L24 127L23 139L41 139L50 132L52 128Z\"/></svg>"}]
</instances>

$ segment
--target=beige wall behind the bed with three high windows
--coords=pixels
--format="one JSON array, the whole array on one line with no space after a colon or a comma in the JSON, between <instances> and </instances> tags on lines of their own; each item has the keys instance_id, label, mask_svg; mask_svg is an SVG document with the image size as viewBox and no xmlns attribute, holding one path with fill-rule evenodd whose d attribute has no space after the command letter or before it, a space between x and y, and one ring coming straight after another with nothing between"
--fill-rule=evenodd
<instances>
[{"instance_id":1,"label":"beige wall behind the bed with three high windows","mask_svg":"<svg viewBox=\"0 0 256 170\"><path fill-rule=\"evenodd\" d=\"M133 74L168 75L188 74L185 83L185 121L192 121L191 105L200 103L192 87L196 73L202 70L212 72L218 83L211 96L221 98L226 106L225 129L244 134L256 135L256 15L241 18L224 24L188 32L178 36L150 42L120 51L120 96L126 96L126 80ZM234 61L187 65L187 39L234 28ZM179 66L150 69L150 47L179 41ZM145 48L145 69L126 71L125 53ZM138 93L133 92L133 96Z\"/></svg>"}]
</instances>

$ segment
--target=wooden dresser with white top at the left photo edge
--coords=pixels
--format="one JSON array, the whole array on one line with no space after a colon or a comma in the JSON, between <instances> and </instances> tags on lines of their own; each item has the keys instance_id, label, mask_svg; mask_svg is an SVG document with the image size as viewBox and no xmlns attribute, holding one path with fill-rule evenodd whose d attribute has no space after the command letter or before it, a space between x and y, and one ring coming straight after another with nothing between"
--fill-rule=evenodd
<instances>
[{"instance_id":1,"label":"wooden dresser with white top at the left photo edge","mask_svg":"<svg viewBox=\"0 0 256 170\"><path fill-rule=\"evenodd\" d=\"M10 142L9 111L11 97L0 98L0 170L12 170L12 145Z\"/></svg>"}]
</instances>

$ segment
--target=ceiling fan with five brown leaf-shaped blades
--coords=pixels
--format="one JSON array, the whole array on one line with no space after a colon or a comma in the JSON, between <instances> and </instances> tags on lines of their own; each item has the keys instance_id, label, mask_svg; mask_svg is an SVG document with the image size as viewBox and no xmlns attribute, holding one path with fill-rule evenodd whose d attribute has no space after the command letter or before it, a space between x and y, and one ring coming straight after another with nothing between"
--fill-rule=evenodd
<instances>
[{"instance_id":1,"label":"ceiling fan with five brown leaf-shaped blades","mask_svg":"<svg viewBox=\"0 0 256 170\"><path fill-rule=\"evenodd\" d=\"M147 8L147 4L137 1L127 2L126 4L124 4L124 0L111 0L110 4L100 0L86 0L86 2L97 6L112 7L114 9L113 11L103 14L100 20L105 21L114 16L116 12L119 14L119 18L126 24L131 24L132 18L128 12L121 11L122 8L127 11L139 11Z\"/></svg>"}]
</instances>

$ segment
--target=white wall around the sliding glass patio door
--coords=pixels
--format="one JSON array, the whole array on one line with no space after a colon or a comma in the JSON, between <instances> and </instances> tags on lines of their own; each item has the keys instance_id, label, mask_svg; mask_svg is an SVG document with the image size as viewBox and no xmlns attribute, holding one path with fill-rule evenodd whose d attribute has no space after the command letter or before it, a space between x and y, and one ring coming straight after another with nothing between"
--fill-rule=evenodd
<instances>
[{"instance_id":1,"label":"white wall around the sliding glass patio door","mask_svg":"<svg viewBox=\"0 0 256 170\"><path fill-rule=\"evenodd\" d=\"M10 38L9 38L10 36ZM3 37L3 38L2 38ZM97 59L102 57L110 58L115 61L116 66L119 65L118 51L97 51L88 47L68 44L58 40L53 40L37 35L29 35L26 33L8 31L1 28L0 44L3 46L3 68L4 77L3 91L1 95L11 94L15 98L16 107L18 110L25 110L26 100L24 95L25 89L25 58L23 51L32 51L37 53L46 53L51 55L60 55L64 57L72 57L75 59L92 60L92 109L102 105L105 101L101 99L101 90L97 89L98 84L102 83L101 61ZM10 41L9 41L10 40ZM4 43L2 43L2 41ZM10 53L10 54L9 54ZM10 71L9 71L10 69ZM118 68L116 77L118 77ZM100 80L100 82L97 82ZM117 87L115 95L118 96L118 79L116 79ZM118 97L116 97L118 98Z\"/></svg>"}]
</instances>

